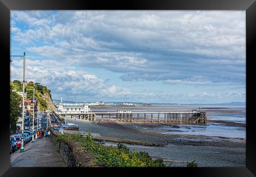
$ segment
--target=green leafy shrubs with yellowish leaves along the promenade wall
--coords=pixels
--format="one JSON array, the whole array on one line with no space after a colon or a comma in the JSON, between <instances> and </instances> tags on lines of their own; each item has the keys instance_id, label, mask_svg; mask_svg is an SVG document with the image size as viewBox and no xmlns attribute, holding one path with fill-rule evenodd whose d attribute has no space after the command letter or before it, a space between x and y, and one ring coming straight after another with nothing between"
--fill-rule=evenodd
<instances>
[{"instance_id":1,"label":"green leafy shrubs with yellowish leaves along the promenade wall","mask_svg":"<svg viewBox=\"0 0 256 177\"><path fill-rule=\"evenodd\" d=\"M80 142L79 146L86 147L86 152L91 155L93 160L92 166L165 167L162 159L152 160L148 153L137 153L135 149L130 152L130 149L121 143L117 147L95 143L91 133L88 133L87 138L82 138L79 135L60 135L56 142L61 140L64 142Z\"/></svg>"}]
</instances>

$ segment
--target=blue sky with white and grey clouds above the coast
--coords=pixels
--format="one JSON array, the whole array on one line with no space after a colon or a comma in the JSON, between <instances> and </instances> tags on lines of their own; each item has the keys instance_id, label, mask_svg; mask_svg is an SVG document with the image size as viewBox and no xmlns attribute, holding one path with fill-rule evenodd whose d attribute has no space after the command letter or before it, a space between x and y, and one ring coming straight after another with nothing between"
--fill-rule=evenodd
<instances>
[{"instance_id":1,"label":"blue sky with white and grey clouds above the coast","mask_svg":"<svg viewBox=\"0 0 256 177\"><path fill-rule=\"evenodd\" d=\"M24 51L26 80L54 99L245 101L245 11L11 11L10 52Z\"/></svg>"}]
</instances>

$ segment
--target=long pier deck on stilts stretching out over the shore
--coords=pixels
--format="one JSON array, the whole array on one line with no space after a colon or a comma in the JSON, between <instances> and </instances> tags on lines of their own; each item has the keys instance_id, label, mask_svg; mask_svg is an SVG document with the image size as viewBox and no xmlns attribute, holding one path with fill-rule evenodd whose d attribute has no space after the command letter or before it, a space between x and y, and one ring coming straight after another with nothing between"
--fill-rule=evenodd
<instances>
[{"instance_id":1,"label":"long pier deck on stilts stretching out over the shore","mask_svg":"<svg viewBox=\"0 0 256 177\"><path fill-rule=\"evenodd\" d=\"M206 112L199 111L174 111L174 112L85 112L85 113L60 113L60 116L82 120L121 121L121 122L158 122L158 123L206 123Z\"/></svg>"}]
</instances>

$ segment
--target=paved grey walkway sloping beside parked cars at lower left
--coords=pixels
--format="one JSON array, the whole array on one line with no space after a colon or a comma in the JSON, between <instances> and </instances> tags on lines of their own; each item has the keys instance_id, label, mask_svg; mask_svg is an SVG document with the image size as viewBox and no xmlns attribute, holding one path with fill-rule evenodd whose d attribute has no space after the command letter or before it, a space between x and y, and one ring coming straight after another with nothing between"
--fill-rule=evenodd
<instances>
[{"instance_id":1,"label":"paved grey walkway sloping beside parked cars at lower left","mask_svg":"<svg viewBox=\"0 0 256 177\"><path fill-rule=\"evenodd\" d=\"M24 146L24 152L18 149L10 154L10 167L66 167L52 138L35 139Z\"/></svg>"}]
</instances>

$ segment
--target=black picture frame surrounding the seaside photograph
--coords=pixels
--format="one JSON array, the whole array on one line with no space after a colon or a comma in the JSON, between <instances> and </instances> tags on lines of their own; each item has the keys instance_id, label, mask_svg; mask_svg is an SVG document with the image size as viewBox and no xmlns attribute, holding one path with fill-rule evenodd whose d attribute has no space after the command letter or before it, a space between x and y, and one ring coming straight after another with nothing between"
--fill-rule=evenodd
<instances>
[{"instance_id":1,"label":"black picture frame surrounding the seaside photograph","mask_svg":"<svg viewBox=\"0 0 256 177\"><path fill-rule=\"evenodd\" d=\"M96 1L96 0L0 0L0 46L2 49L2 93L9 92L9 80L7 65L10 55L10 10L246 10L246 168L76 168L72 169L74 174L89 175L122 175L156 171L159 175L163 172L168 175L189 175L189 176L243 176L256 175L256 136L254 133L254 117L252 114L252 83L249 80L252 75L252 61L255 59L254 48L256 41L256 2L255 0L129 0L129 1ZM253 58L254 57L254 58ZM249 81L252 81L251 83ZM249 87L250 85L250 87ZM3 94L1 101L6 106L9 102L8 94ZM0 175L6 177L15 176L52 176L57 171L58 176L67 174L69 168L10 168L9 163L9 114L3 111L1 120L0 140ZM49 171L50 170L50 171ZM75 170L75 171L74 171ZM18 173L22 171L22 173Z\"/></svg>"}]
</instances>

